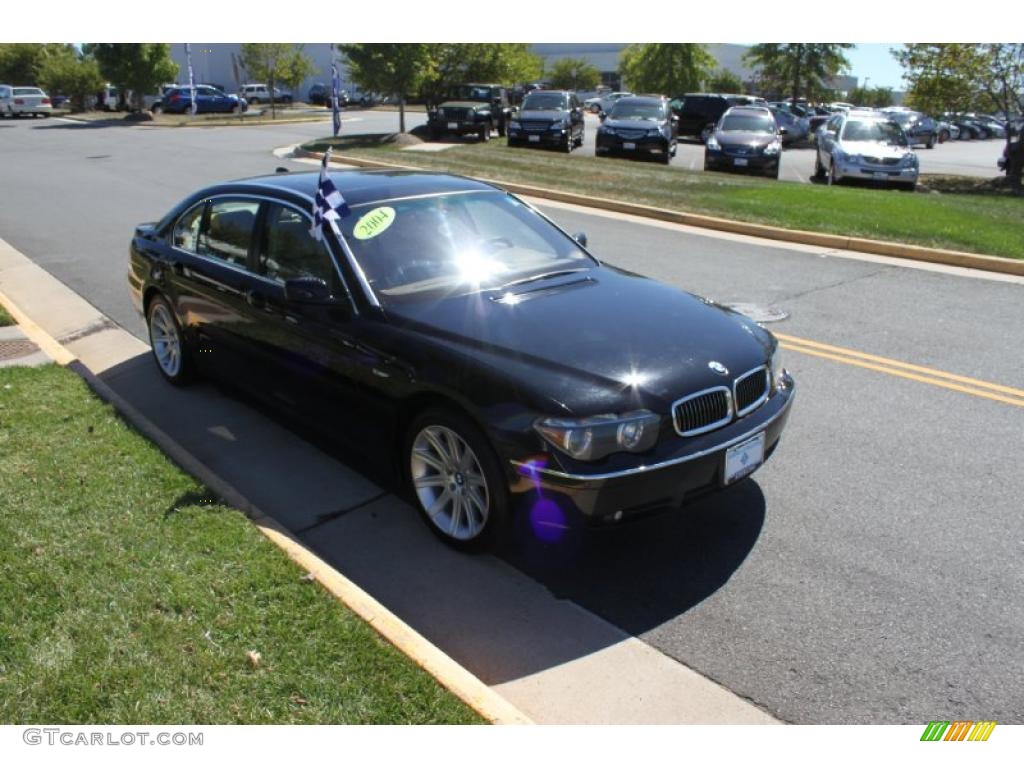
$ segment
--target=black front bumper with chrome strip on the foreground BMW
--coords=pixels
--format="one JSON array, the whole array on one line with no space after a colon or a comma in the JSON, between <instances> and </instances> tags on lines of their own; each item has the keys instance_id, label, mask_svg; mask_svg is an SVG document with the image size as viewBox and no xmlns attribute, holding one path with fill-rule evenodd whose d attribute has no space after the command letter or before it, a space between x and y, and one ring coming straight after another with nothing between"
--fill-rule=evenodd
<instances>
[{"instance_id":1,"label":"black front bumper with chrome strip on the foreground BMW","mask_svg":"<svg viewBox=\"0 0 1024 768\"><path fill-rule=\"evenodd\" d=\"M574 513L590 523L618 522L679 507L724 487L726 452L761 432L767 462L782 435L796 392L792 377L786 375L784 383L753 413L690 438L685 449L656 457L648 465L589 473L552 469L540 459L513 461L516 479L510 489L535 505L553 503L566 515Z\"/></svg>"}]
</instances>

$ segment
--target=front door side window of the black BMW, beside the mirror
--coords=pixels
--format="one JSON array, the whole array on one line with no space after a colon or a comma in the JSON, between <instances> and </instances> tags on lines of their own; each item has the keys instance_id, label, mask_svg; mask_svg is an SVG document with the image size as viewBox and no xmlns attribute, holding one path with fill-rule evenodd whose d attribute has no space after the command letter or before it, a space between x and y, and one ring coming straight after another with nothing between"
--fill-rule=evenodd
<instances>
[{"instance_id":1,"label":"front door side window of the black BMW, beside the mirror","mask_svg":"<svg viewBox=\"0 0 1024 768\"><path fill-rule=\"evenodd\" d=\"M324 244L309 234L309 219L294 208L268 206L263 219L260 273L281 282L291 278L319 278L333 287L331 257Z\"/></svg>"}]
</instances>

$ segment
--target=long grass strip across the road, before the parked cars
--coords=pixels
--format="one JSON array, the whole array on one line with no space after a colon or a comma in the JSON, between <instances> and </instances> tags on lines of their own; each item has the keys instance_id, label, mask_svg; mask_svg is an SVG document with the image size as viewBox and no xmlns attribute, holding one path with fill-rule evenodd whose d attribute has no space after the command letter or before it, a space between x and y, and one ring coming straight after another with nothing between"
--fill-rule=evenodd
<instances>
[{"instance_id":1,"label":"long grass strip across the road, before the parked cars","mask_svg":"<svg viewBox=\"0 0 1024 768\"><path fill-rule=\"evenodd\" d=\"M440 153L400 152L381 137L319 139L321 150L437 169L497 181L536 184L688 213L1024 258L1024 198L830 187L701 173L618 159L566 158L543 150L509 148L505 140L465 143ZM784 159L782 161L785 162Z\"/></svg>"}]
</instances>

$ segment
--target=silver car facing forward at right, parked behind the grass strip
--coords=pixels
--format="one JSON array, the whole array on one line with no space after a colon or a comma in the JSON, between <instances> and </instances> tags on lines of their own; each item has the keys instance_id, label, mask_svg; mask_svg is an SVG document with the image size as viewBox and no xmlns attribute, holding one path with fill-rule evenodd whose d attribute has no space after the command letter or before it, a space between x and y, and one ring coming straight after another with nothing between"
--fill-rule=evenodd
<instances>
[{"instance_id":1,"label":"silver car facing forward at right, parked behind the grass strip","mask_svg":"<svg viewBox=\"0 0 1024 768\"><path fill-rule=\"evenodd\" d=\"M912 190L920 171L903 129L881 113L839 113L818 130L814 175L829 184L860 179Z\"/></svg>"}]
</instances>

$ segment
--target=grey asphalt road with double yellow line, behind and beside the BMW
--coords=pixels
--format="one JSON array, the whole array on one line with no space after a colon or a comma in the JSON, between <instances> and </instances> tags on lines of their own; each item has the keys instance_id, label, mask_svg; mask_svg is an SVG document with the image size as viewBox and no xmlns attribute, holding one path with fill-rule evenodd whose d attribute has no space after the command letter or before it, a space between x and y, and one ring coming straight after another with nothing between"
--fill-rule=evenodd
<instances>
[{"instance_id":1,"label":"grey asphalt road with double yellow line, behind and beside the BMW","mask_svg":"<svg viewBox=\"0 0 1024 768\"><path fill-rule=\"evenodd\" d=\"M4 121L0 237L142 336L134 224L208 182L307 168L269 151L323 132ZM781 308L779 333L1024 388L1019 283L547 211L611 263ZM786 353L787 432L753 480L508 559L785 720L1024 722L1024 408L804 349Z\"/></svg>"}]
</instances>

